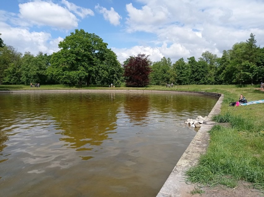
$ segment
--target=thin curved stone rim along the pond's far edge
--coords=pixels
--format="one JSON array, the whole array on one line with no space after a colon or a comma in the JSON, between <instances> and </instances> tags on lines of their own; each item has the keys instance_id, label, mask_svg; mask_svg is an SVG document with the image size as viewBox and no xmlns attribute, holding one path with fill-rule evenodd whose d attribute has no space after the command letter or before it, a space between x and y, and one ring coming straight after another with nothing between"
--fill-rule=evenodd
<instances>
[{"instance_id":1,"label":"thin curved stone rim along the pond's far edge","mask_svg":"<svg viewBox=\"0 0 264 197\"><path fill-rule=\"evenodd\" d=\"M177 90L1 90L0 93L25 93L25 92L170 92L182 94L203 94L220 97L221 94L215 92L177 91Z\"/></svg>"}]
</instances>

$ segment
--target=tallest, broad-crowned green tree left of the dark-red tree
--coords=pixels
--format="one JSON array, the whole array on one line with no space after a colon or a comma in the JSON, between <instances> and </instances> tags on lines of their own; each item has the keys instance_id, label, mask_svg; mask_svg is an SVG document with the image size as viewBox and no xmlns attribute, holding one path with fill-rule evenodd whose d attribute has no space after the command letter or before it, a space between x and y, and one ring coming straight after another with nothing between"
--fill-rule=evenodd
<instances>
[{"instance_id":1,"label":"tallest, broad-crowned green tree left of the dark-red tree","mask_svg":"<svg viewBox=\"0 0 264 197\"><path fill-rule=\"evenodd\" d=\"M121 83L121 64L107 45L94 33L76 29L59 42L49 70L55 70L56 80L63 84Z\"/></svg>"}]
</instances>

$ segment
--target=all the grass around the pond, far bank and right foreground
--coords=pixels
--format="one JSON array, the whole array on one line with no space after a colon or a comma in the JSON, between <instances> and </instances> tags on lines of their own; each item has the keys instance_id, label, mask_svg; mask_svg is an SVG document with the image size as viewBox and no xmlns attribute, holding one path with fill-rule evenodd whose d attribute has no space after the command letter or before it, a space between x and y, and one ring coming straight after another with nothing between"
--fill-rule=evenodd
<instances>
[{"instance_id":1,"label":"all the grass around the pond, far bank and right foreground","mask_svg":"<svg viewBox=\"0 0 264 197\"><path fill-rule=\"evenodd\" d=\"M264 189L264 104L230 107L243 94L248 101L264 99L258 86L238 85L182 85L174 88L148 86L126 88L125 86L43 85L30 88L24 85L1 85L0 90L52 90L52 89L140 89L166 91L198 91L224 94L221 113L214 117L226 126L214 126L210 131L208 151L200 157L199 165L187 171L188 180L208 186L226 185L235 187L239 180L252 182Z\"/></svg>"}]
</instances>

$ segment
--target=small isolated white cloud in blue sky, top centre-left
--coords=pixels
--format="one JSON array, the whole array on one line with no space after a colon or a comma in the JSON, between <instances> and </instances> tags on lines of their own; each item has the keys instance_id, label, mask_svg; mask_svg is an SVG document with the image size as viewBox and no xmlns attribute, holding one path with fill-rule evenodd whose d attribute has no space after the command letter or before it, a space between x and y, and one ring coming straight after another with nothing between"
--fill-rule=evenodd
<instances>
[{"instance_id":1,"label":"small isolated white cloud in blue sky, top centre-left","mask_svg":"<svg viewBox=\"0 0 264 197\"><path fill-rule=\"evenodd\" d=\"M103 18L109 21L112 25L120 25L120 19L122 19L122 17L114 10L114 8L111 7L110 10L107 10L105 7L101 7L97 4L95 9L103 14Z\"/></svg>"}]
</instances>

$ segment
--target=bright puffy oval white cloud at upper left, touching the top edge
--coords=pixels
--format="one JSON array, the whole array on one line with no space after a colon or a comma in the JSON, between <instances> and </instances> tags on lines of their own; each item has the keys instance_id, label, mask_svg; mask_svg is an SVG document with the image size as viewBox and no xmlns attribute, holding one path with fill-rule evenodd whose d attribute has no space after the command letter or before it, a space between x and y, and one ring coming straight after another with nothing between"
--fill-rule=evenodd
<instances>
[{"instance_id":1,"label":"bright puffy oval white cloud at upper left, touching the top edge","mask_svg":"<svg viewBox=\"0 0 264 197\"><path fill-rule=\"evenodd\" d=\"M72 29L78 26L78 19L69 10L53 2L33 1L19 4L20 17L31 24Z\"/></svg>"}]
</instances>

